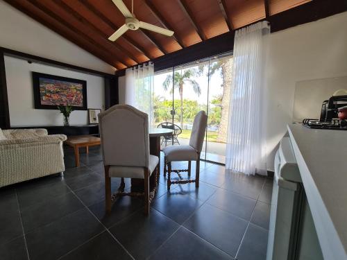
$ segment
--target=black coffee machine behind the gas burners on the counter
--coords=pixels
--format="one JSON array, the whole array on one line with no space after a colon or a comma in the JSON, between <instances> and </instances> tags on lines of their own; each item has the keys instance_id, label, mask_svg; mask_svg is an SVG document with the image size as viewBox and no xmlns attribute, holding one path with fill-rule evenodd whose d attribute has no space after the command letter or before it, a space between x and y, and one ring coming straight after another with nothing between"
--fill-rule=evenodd
<instances>
[{"instance_id":1,"label":"black coffee machine behind the gas burners on the counter","mask_svg":"<svg viewBox=\"0 0 347 260\"><path fill-rule=\"evenodd\" d=\"M328 101L323 101L321 122L331 122L333 119L338 119L337 112L339 107L347 105L347 95L344 96L332 96Z\"/></svg>"}]
</instances>

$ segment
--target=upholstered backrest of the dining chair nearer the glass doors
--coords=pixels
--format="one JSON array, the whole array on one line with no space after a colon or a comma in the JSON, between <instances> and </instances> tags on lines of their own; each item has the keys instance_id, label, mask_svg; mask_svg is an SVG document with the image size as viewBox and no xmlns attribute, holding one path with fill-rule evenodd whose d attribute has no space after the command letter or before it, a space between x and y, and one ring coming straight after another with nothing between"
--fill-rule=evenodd
<instances>
[{"instance_id":1,"label":"upholstered backrest of the dining chair nearer the glass doors","mask_svg":"<svg viewBox=\"0 0 347 260\"><path fill-rule=\"evenodd\" d=\"M189 146L192 146L198 153L203 148L203 137L205 137L206 126L208 125L208 116L201 110L196 114L193 122L192 135L190 135Z\"/></svg>"}]
</instances>

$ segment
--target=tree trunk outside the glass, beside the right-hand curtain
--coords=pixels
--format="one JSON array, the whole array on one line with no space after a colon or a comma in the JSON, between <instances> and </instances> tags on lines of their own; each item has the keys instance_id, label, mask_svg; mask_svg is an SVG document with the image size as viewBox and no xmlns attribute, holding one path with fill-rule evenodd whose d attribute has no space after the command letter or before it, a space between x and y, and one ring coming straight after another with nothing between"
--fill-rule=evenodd
<instances>
[{"instance_id":1,"label":"tree trunk outside the glass, beside the right-hand curtain","mask_svg":"<svg viewBox=\"0 0 347 260\"><path fill-rule=\"evenodd\" d=\"M219 125L217 141L226 143L229 120L230 89L232 83L232 58L228 58L222 62L221 73L223 77L223 96L221 99L221 123Z\"/></svg>"}]
</instances>

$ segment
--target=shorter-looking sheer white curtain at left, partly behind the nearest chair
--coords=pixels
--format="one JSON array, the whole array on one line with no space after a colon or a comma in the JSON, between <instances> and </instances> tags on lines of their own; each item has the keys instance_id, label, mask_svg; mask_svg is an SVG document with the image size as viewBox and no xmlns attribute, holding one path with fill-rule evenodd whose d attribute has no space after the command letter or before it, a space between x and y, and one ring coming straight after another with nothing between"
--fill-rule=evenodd
<instances>
[{"instance_id":1,"label":"shorter-looking sheer white curtain at left, partly behind the nearest chair","mask_svg":"<svg viewBox=\"0 0 347 260\"><path fill-rule=\"evenodd\" d=\"M153 62L126 69L126 104L149 114L149 125L153 125Z\"/></svg>"}]
</instances>

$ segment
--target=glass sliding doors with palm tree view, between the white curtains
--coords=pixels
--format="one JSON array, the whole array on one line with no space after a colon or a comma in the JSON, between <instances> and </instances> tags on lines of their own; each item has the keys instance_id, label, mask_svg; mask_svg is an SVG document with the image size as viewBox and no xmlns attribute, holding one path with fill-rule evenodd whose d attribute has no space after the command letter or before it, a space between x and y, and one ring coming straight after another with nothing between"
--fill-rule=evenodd
<instances>
[{"instance_id":1,"label":"glass sliding doors with palm tree view, between the white curtains","mask_svg":"<svg viewBox=\"0 0 347 260\"><path fill-rule=\"evenodd\" d=\"M154 121L174 123L182 132L174 144L189 144L194 116L208 114L201 159L225 164L232 80L230 53L183 64L154 76ZM162 144L162 148L166 145Z\"/></svg>"}]
</instances>

